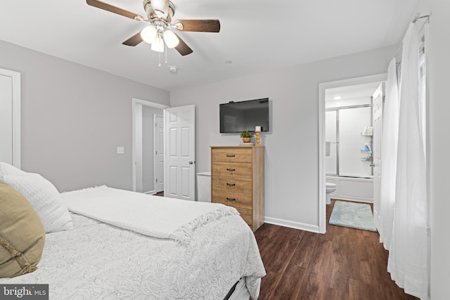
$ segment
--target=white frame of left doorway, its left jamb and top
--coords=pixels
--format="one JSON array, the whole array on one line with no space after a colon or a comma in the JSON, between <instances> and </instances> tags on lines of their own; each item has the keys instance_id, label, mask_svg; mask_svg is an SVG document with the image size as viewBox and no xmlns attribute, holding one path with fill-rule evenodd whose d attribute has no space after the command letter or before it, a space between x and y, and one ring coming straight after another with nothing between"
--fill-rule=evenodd
<instances>
[{"instance_id":1,"label":"white frame of left doorway, its left jamb and top","mask_svg":"<svg viewBox=\"0 0 450 300\"><path fill-rule=\"evenodd\" d=\"M138 98L131 98L131 112L132 112L132 127L133 127L133 141L131 150L131 181L132 190L136 192L138 178L142 178L142 164L137 163L139 157L139 150L142 149L142 107L153 107L164 110L170 107L161 103L154 103L147 100L141 100Z\"/></svg>"}]
</instances>

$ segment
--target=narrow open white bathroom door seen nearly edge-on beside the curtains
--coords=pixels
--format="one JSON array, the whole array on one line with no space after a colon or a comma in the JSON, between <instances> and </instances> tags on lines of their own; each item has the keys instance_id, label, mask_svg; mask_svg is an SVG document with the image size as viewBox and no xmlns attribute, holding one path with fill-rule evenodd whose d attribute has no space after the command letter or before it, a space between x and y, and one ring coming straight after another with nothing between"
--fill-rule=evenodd
<instances>
[{"instance_id":1,"label":"narrow open white bathroom door seen nearly edge-on beside the curtains","mask_svg":"<svg viewBox=\"0 0 450 300\"><path fill-rule=\"evenodd\" d=\"M381 191L381 132L383 129L383 100L385 97L385 83L381 83L373 93L373 221L380 228L380 191Z\"/></svg>"}]
</instances>

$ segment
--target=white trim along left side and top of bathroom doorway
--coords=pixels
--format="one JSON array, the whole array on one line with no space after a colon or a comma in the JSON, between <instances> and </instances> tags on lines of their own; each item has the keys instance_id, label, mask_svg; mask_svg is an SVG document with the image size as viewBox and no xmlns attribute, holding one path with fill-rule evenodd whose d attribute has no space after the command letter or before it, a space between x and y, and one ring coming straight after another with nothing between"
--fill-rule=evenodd
<instances>
[{"instance_id":1,"label":"white trim along left side and top of bathroom doorway","mask_svg":"<svg viewBox=\"0 0 450 300\"><path fill-rule=\"evenodd\" d=\"M325 179L325 91L326 89L356 84L386 81L387 74L328 81L319 84L319 233L326 233L326 179Z\"/></svg>"}]
</instances>

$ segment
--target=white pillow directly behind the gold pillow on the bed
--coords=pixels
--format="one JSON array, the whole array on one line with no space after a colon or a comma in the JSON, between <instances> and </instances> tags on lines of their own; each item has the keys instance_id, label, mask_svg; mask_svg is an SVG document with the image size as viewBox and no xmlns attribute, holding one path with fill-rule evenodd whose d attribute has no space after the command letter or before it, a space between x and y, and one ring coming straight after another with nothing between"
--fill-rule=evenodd
<instances>
[{"instance_id":1,"label":"white pillow directly behind the gold pillow on the bed","mask_svg":"<svg viewBox=\"0 0 450 300\"><path fill-rule=\"evenodd\" d=\"M0 176L0 181L11 185L27 198L41 218L46 233L73 229L72 218L60 199L60 193L46 178L27 173L22 176Z\"/></svg>"}]
</instances>

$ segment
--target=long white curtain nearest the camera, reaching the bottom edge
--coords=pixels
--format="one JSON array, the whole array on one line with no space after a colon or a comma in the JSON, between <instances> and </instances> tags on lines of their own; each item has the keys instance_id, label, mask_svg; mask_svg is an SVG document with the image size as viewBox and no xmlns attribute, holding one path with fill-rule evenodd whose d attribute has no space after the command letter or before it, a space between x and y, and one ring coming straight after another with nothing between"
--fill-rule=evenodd
<instances>
[{"instance_id":1,"label":"long white curtain nearest the camera, reaching the bottom edge","mask_svg":"<svg viewBox=\"0 0 450 300\"><path fill-rule=\"evenodd\" d=\"M403 41L399 93L399 135L394 223L387 270L407 294L428 299L427 191L419 112L418 27Z\"/></svg>"}]
</instances>

